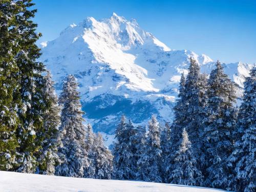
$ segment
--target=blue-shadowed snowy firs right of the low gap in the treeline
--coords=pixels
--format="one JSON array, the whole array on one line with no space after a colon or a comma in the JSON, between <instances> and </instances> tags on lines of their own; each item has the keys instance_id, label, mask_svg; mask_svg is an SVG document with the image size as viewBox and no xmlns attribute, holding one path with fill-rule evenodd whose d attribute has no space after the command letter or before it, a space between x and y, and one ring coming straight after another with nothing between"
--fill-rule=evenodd
<instances>
[{"instance_id":1,"label":"blue-shadowed snowy firs right of the low gap in the treeline","mask_svg":"<svg viewBox=\"0 0 256 192\"><path fill-rule=\"evenodd\" d=\"M219 61L208 78L190 58L171 125L161 127L152 116L146 132L146 127L121 118L115 133L113 177L255 191L255 67L244 82L239 109L236 89Z\"/></svg>"}]
</instances>

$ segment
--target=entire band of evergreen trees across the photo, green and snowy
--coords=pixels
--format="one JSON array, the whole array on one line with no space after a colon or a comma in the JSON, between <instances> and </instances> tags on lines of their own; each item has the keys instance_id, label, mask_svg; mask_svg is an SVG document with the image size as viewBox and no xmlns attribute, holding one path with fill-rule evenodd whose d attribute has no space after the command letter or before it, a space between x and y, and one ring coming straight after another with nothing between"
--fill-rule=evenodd
<instances>
[{"instance_id":1,"label":"entire band of evergreen trees across the photo, green and snowy","mask_svg":"<svg viewBox=\"0 0 256 192\"><path fill-rule=\"evenodd\" d=\"M173 122L162 125L152 114L135 126L124 114L110 151L84 125L75 77L66 77L58 98L50 71L37 61L33 5L0 0L0 170L256 190L255 66L238 98L221 62L208 76L190 58Z\"/></svg>"}]
</instances>

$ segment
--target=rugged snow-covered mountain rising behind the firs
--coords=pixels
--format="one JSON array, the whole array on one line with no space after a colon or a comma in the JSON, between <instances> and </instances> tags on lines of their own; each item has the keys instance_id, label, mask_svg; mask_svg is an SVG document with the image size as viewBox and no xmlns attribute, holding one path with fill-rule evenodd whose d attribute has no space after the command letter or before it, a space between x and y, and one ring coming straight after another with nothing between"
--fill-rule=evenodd
<instances>
[{"instance_id":1,"label":"rugged snow-covered mountain rising behind the firs","mask_svg":"<svg viewBox=\"0 0 256 192\"><path fill-rule=\"evenodd\" d=\"M44 62L51 70L59 92L68 74L78 79L83 110L95 131L114 133L122 114L135 123L152 114L172 121L172 108L182 72L187 74L189 57L200 63L203 73L215 68L207 55L172 50L135 19L113 13L110 18L87 17L72 24L53 41L42 44ZM224 63L225 72L239 86L251 65Z\"/></svg>"}]
</instances>

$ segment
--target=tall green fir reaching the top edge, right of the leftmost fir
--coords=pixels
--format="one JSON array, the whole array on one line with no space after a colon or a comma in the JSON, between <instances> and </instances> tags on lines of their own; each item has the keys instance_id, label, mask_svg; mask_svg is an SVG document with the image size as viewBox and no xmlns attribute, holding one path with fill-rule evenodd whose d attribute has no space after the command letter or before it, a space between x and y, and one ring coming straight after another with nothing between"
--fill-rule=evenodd
<instances>
[{"instance_id":1,"label":"tall green fir reaching the top edge, right of the leftmost fir","mask_svg":"<svg viewBox=\"0 0 256 192\"><path fill-rule=\"evenodd\" d=\"M41 141L36 135L44 130L44 121L42 114L47 110L44 100L44 77L42 72L45 67L37 59L40 56L40 49L36 41L41 34L36 33L37 25L33 22L36 10L31 9L34 5L31 0L15 1L13 5L18 7L15 23L18 33L16 43L19 51L15 55L18 66L17 80L19 83L18 94L15 94L15 100L20 100L18 106L19 125L17 129L17 138L19 147L17 148L18 167L17 172L34 173L37 167L35 154L41 148ZM17 10L16 10L17 11Z\"/></svg>"}]
</instances>

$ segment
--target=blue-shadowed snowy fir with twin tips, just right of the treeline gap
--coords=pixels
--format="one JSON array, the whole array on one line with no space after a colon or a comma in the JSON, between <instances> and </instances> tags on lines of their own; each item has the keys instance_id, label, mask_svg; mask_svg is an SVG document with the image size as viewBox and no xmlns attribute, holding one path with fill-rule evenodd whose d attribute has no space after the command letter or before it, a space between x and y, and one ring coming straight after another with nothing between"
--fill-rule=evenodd
<instances>
[{"instance_id":1,"label":"blue-shadowed snowy fir with twin tips, just right of the treeline gap","mask_svg":"<svg viewBox=\"0 0 256 192\"><path fill-rule=\"evenodd\" d=\"M116 129L116 142L114 144L114 178L116 179L135 179L137 169L136 159L136 143L134 136L136 135L135 127L130 120L125 122L122 116L121 121Z\"/></svg>"}]
</instances>

